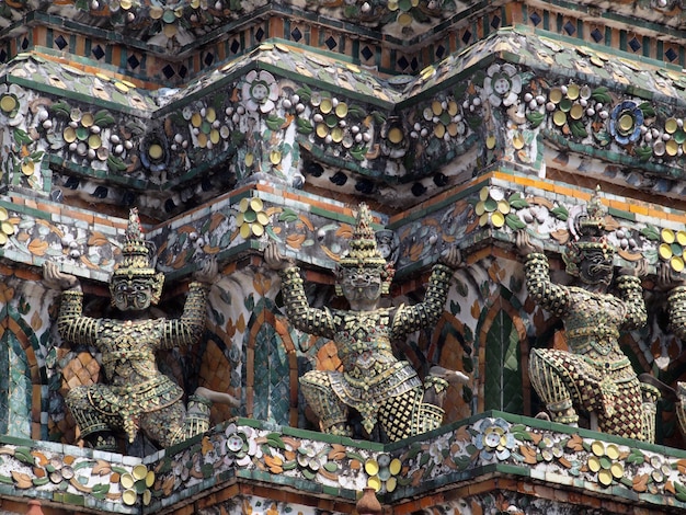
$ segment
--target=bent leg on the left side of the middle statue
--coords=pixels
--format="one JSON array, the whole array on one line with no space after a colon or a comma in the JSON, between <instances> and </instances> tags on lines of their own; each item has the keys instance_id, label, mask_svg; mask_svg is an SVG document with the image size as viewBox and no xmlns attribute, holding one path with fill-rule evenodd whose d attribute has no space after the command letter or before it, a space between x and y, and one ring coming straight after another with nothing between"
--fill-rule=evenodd
<instances>
[{"instance_id":1,"label":"bent leg on the left side of the middle statue","mask_svg":"<svg viewBox=\"0 0 686 515\"><path fill-rule=\"evenodd\" d=\"M324 433L352 436L348 424L348 408L333 392L329 375L322 370L310 370L300 377L300 390L310 409L319 417Z\"/></svg>"}]
</instances>

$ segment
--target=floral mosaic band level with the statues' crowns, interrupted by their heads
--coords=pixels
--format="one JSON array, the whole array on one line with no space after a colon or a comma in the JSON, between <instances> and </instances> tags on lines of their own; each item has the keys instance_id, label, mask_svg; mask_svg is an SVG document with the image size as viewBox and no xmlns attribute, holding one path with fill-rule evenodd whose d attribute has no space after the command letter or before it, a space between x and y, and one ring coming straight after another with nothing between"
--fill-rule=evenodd
<instances>
[{"instance_id":1,"label":"floral mosaic band level with the statues' crowns, interrupted by their heads","mask_svg":"<svg viewBox=\"0 0 686 515\"><path fill-rule=\"evenodd\" d=\"M575 236L570 219L581 213L581 207L575 198L558 198L552 202L544 196L524 196L522 191L500 184L458 195L435 213L396 228L400 241L397 266L430 260L446 244L490 230L494 230L490 237L504 242L512 242L517 230L526 229L552 247L564 245ZM176 221L173 230L160 226L150 234L158 247L159 268L181 271L204 254L231 252L247 241L254 242L255 249L262 248L268 240L276 241L286 254L307 251L310 259L331 266L345 250L341 242L350 233L350 225L312 215L306 204L286 207L282 203L270 193L227 196L216 203L211 213ZM649 265L666 263L675 272L683 270L684 230L621 218L614 219L610 227L609 242L620 259L645 259ZM105 277L116 259L116 245L112 245L115 241L111 228L87 230L54 222L49 216L36 219L0 206L0 247L13 250L16 259L23 256L27 263L49 258Z\"/></svg>"}]
</instances>

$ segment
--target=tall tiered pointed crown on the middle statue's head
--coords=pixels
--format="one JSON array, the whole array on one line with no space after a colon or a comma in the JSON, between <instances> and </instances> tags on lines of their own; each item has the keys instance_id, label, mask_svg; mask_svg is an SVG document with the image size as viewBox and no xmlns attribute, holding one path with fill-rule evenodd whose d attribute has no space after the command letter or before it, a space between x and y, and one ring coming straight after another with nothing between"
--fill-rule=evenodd
<instances>
[{"instance_id":1,"label":"tall tiered pointed crown on the middle statue's head","mask_svg":"<svg viewBox=\"0 0 686 515\"><path fill-rule=\"evenodd\" d=\"M380 271L384 279L382 293L388 293L388 287L393 276L393 266L386 261L377 247L369 207L364 203L359 204L357 221L353 229L348 250L339 260L340 268L377 268Z\"/></svg>"}]
</instances>

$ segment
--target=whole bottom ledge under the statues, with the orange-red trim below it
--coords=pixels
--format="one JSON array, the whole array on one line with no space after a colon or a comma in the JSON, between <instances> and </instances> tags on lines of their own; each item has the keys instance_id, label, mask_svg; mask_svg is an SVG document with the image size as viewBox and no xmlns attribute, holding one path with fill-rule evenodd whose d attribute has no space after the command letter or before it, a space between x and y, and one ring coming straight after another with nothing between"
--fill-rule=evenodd
<instances>
[{"instance_id":1,"label":"whole bottom ledge under the statues, with the orange-red trim below it","mask_svg":"<svg viewBox=\"0 0 686 515\"><path fill-rule=\"evenodd\" d=\"M563 504L551 506L564 510L564 500L558 499L562 491L571 496L613 492L613 503L624 506L620 510L632 504L666 513L662 499L668 499L671 513L686 510L683 451L503 412L487 412L388 446L264 427L247 419L145 459L20 438L0 440L1 493L21 492L58 506L96 512L156 513L192 499L196 507L208 507L222 502L221 494L211 495L218 487L226 489L226 502L238 493L286 501L278 492L287 487L310 506L324 507L318 506L319 497L348 512L356 492L368 485L384 505L408 513L447 502L434 496L436 487L459 493L466 480L484 490L498 484L503 491L500 500L485 500L475 497L480 489L472 487L462 493L467 505L498 503L506 508L515 500L557 501ZM518 482L527 479L546 481L558 494L552 489L518 490ZM250 490L255 482L262 487Z\"/></svg>"}]
</instances>

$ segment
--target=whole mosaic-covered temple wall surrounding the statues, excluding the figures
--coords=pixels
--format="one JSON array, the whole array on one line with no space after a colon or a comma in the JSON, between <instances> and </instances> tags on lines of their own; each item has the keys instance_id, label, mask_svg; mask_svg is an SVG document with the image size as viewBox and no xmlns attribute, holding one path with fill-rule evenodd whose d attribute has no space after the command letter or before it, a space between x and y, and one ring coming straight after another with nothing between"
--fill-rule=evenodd
<instances>
[{"instance_id":1,"label":"whole mosaic-covered temple wall surrounding the statues, excluding the figures","mask_svg":"<svg viewBox=\"0 0 686 515\"><path fill-rule=\"evenodd\" d=\"M596 193L615 271L647 264L648 323L621 350L637 375L686 380L661 284L686 261L685 28L673 0L0 1L2 513L334 515L365 487L397 514L686 513L668 392L654 444L586 413L534 419L531 352L568 339L516 251L525 232L571 284ZM264 259L276 245L309 305L345 308L361 203L396 268L384 306L422 301L442 254L462 258L438 321L392 348L421 378L469 380L444 427L393 444L319 432L298 379L342 363L294 328ZM160 352L161 371L240 407L214 404L211 430L169 449L90 450L65 397L105 381L102 356L62 341L42 268L110 317L132 207L165 276L152 316L180 317L219 265L201 340Z\"/></svg>"}]
</instances>

